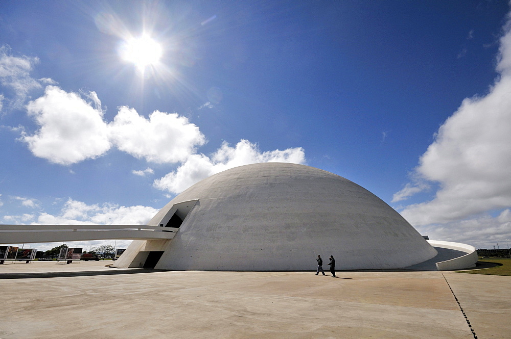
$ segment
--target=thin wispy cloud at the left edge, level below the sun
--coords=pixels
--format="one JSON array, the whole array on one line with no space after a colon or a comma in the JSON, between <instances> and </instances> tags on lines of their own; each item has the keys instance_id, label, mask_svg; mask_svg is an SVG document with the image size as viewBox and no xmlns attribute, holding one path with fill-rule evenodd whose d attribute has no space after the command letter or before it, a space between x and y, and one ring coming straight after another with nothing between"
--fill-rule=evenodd
<instances>
[{"instance_id":1,"label":"thin wispy cloud at the left edge, level below the sun","mask_svg":"<svg viewBox=\"0 0 511 339\"><path fill-rule=\"evenodd\" d=\"M9 46L0 46L0 85L12 91L8 102L10 108L21 108L30 91L42 88L41 84L30 76L32 67L38 62L39 59L34 57L14 57Z\"/></svg>"}]
</instances>

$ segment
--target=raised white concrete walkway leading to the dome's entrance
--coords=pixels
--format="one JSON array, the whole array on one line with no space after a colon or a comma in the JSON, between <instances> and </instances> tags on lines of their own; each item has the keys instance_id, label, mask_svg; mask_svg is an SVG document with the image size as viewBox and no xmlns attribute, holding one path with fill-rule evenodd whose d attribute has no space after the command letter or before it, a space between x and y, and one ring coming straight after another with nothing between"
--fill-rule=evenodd
<instances>
[{"instance_id":1,"label":"raised white concrete walkway leading to the dome's entrance","mask_svg":"<svg viewBox=\"0 0 511 339\"><path fill-rule=\"evenodd\" d=\"M178 230L150 225L0 225L0 244L172 239Z\"/></svg>"}]
</instances>

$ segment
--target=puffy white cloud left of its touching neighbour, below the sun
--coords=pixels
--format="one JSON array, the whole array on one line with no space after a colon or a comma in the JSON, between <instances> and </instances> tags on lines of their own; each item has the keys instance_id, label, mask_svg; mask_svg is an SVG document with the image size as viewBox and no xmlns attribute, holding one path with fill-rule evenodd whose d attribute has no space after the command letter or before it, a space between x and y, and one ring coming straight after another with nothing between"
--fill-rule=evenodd
<instances>
[{"instance_id":1,"label":"puffy white cloud left of its touching neighbour, below the sun","mask_svg":"<svg viewBox=\"0 0 511 339\"><path fill-rule=\"evenodd\" d=\"M101 106L95 93L89 99ZM110 148L103 112L76 93L48 86L43 96L29 102L27 110L40 129L32 136L22 134L21 139L36 157L70 165L94 159Z\"/></svg>"}]
</instances>

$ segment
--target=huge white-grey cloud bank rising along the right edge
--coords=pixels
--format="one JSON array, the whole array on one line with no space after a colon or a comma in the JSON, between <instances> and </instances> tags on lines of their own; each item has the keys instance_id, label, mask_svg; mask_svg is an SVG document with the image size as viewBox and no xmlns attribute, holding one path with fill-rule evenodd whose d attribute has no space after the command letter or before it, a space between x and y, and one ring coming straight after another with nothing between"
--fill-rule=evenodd
<instances>
[{"instance_id":1,"label":"huge white-grey cloud bank rising along the right edge","mask_svg":"<svg viewBox=\"0 0 511 339\"><path fill-rule=\"evenodd\" d=\"M444 235L444 228L479 227L480 234L484 234L491 227L503 224L504 217L494 219L485 213L500 210L507 211L504 215L508 215L511 206L509 22L500 39L497 71L499 77L489 92L464 99L458 110L440 126L434 142L420 158L414 176L437 182L440 188L431 201L404 207L401 214L411 224L431 225L428 227L437 230L439 236ZM402 200L414 190L420 191L408 184L394 199Z\"/></svg>"}]
</instances>

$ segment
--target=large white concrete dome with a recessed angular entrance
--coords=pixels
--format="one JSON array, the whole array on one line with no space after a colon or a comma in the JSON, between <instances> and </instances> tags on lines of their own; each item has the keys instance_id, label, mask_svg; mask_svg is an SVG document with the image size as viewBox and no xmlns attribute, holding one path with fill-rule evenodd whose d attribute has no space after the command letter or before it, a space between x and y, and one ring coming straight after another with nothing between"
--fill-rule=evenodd
<instances>
[{"instance_id":1,"label":"large white concrete dome with a recessed angular entrance","mask_svg":"<svg viewBox=\"0 0 511 339\"><path fill-rule=\"evenodd\" d=\"M115 266L143 266L157 253L156 269L299 271L314 269L321 254L324 268L333 255L338 270L393 269L437 253L373 193L336 174L287 163L212 175L149 222L160 224L179 227L174 239L134 241Z\"/></svg>"}]
</instances>

